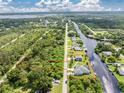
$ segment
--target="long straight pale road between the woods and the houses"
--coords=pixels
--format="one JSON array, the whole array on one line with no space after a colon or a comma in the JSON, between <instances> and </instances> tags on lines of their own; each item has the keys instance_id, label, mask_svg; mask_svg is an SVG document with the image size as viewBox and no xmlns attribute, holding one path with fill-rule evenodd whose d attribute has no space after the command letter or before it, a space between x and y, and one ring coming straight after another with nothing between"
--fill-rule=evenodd
<instances>
[{"instance_id":1,"label":"long straight pale road between the woods and the houses","mask_svg":"<svg viewBox=\"0 0 124 93\"><path fill-rule=\"evenodd\" d=\"M68 23L66 23L65 30L65 53L64 53L64 73L63 73L63 86L62 93L67 93L67 68L68 68Z\"/></svg>"}]
</instances>

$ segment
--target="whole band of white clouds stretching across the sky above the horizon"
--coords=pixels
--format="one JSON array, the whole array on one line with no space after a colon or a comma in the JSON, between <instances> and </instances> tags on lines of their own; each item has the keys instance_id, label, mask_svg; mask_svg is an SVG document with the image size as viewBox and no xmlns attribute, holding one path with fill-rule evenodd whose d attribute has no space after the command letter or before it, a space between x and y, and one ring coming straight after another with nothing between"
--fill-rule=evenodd
<instances>
[{"instance_id":1,"label":"whole band of white clouds stretching across the sky above the horizon","mask_svg":"<svg viewBox=\"0 0 124 93\"><path fill-rule=\"evenodd\" d=\"M74 4L70 0L40 0L33 7L18 8L10 5L13 0L0 0L0 13L8 12L62 12L62 11L114 11L111 8L105 9L100 0L80 0ZM115 11L121 11L121 8Z\"/></svg>"}]
</instances>

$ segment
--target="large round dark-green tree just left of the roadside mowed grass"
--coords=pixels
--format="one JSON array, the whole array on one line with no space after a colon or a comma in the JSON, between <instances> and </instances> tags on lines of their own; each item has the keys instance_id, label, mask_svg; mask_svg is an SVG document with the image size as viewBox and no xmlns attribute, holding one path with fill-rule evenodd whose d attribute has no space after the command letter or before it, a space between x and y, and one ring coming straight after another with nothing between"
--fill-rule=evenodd
<instances>
[{"instance_id":1,"label":"large round dark-green tree just left of the roadside mowed grass","mask_svg":"<svg viewBox=\"0 0 124 93\"><path fill-rule=\"evenodd\" d=\"M52 79L42 69L31 71L28 75L28 84L33 92L40 91L46 93L52 87Z\"/></svg>"}]
</instances>

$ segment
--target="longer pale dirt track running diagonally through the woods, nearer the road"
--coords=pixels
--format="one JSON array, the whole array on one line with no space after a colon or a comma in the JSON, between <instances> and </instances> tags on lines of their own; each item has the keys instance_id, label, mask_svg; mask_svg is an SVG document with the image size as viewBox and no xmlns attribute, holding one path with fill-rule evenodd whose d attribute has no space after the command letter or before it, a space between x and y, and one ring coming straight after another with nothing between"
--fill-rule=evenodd
<instances>
[{"instance_id":1,"label":"longer pale dirt track running diagonally through the woods, nearer the road","mask_svg":"<svg viewBox=\"0 0 124 93\"><path fill-rule=\"evenodd\" d=\"M42 39L43 39L42 37L43 37L44 35L46 35L48 32L49 32L49 31L45 32L37 41L42 40ZM21 35L19 38L21 38L21 37L23 37L23 36L24 36L24 35ZM36 41L36 42L37 42L37 41ZM35 43L36 43L36 42L35 42ZM33 45L34 45L34 44L33 44ZM32 46L33 46L33 45L32 45ZM1 85L2 83L4 83L5 80L7 79L7 74L10 73L12 70L16 69L17 65L20 64L20 63L29 55L30 51L31 51L31 49L28 48L28 49L26 50L26 52L24 53L24 55L13 65L13 67L12 67L8 72L6 72L6 73L4 74L4 76L0 79L0 85Z\"/></svg>"}]
</instances>

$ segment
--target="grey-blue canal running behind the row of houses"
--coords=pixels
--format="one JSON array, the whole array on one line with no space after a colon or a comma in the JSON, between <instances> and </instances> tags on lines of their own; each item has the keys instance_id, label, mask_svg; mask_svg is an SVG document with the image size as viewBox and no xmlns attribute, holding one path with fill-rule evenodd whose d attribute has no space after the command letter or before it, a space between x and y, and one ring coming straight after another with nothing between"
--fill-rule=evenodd
<instances>
[{"instance_id":1,"label":"grey-blue canal running behind the row of houses","mask_svg":"<svg viewBox=\"0 0 124 93\"><path fill-rule=\"evenodd\" d=\"M77 33L80 35L82 42L84 43L84 47L87 48L87 55L90 62L94 64L93 69L102 82L104 93L121 93L118 87L117 79L108 70L106 64L101 62L99 56L94 52L94 49L97 46L97 41L85 37L78 25L74 22L73 24Z\"/></svg>"}]
</instances>

